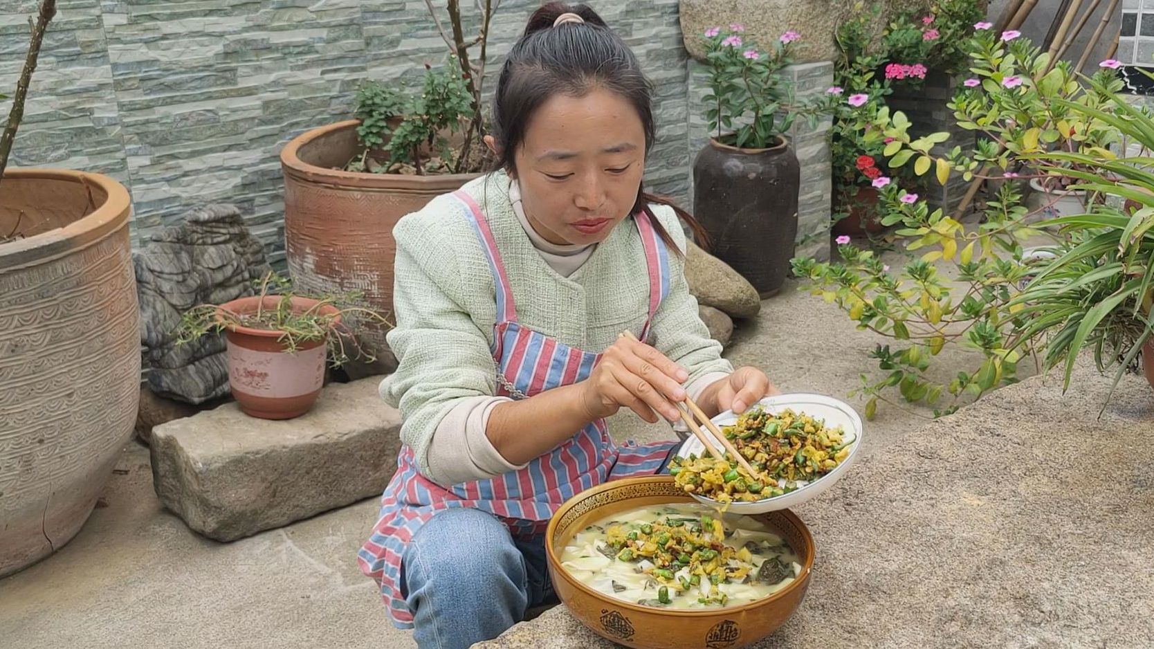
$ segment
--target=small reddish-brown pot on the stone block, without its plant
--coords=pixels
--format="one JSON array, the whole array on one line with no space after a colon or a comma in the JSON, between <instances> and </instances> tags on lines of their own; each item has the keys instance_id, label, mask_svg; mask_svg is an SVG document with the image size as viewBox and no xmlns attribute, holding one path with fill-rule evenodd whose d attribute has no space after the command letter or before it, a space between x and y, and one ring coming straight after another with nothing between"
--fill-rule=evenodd
<instances>
[{"instance_id":1,"label":"small reddish-brown pot on the stone block, without its plant","mask_svg":"<svg viewBox=\"0 0 1154 649\"><path fill-rule=\"evenodd\" d=\"M217 321L223 321L223 311L235 314L255 313L263 300L264 308L276 308L280 300L276 296L253 296L220 305ZM292 298L293 312L304 313L320 304L307 298ZM320 307L320 313L336 315L330 305ZM332 323L338 324L336 315ZM228 386L240 409L250 417L261 419L292 419L308 412L324 385L324 361L328 357L327 340L310 341L288 351L282 342L282 331L254 329L239 324L226 324L228 343Z\"/></svg>"}]
</instances>

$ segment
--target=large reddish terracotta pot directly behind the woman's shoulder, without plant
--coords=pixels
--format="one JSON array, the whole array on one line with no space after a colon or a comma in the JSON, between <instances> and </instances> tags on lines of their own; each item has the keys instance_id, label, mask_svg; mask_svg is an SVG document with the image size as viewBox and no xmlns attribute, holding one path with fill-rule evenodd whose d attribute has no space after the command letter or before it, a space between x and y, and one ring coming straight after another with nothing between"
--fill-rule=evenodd
<instances>
[{"instance_id":1,"label":"large reddish terracotta pot directly behind the woman's shoulder, without plant","mask_svg":"<svg viewBox=\"0 0 1154 649\"><path fill-rule=\"evenodd\" d=\"M368 306L392 311L392 229L433 197L459 189L477 173L400 176L343 167L361 149L357 120L308 130L280 151L285 178L285 253L293 285L314 294L360 291ZM396 365L375 323L358 328L376 371Z\"/></svg>"}]
</instances>

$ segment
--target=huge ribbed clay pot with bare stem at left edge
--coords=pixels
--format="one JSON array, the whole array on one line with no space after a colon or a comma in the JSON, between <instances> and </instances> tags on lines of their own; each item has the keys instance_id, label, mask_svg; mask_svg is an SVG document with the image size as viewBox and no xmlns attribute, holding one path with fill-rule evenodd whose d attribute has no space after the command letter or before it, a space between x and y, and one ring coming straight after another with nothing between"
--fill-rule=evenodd
<instances>
[{"instance_id":1,"label":"huge ribbed clay pot with bare stem at left edge","mask_svg":"<svg viewBox=\"0 0 1154 649\"><path fill-rule=\"evenodd\" d=\"M128 191L98 173L8 167L54 15L43 0L0 134L0 576L80 531L140 398Z\"/></svg>"}]
</instances>

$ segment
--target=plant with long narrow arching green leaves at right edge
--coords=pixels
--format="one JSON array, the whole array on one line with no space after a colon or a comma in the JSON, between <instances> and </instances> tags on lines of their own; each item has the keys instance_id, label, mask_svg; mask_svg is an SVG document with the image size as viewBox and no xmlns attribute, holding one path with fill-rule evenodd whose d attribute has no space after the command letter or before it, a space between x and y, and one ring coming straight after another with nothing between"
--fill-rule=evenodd
<instances>
[{"instance_id":1,"label":"plant with long narrow arching green leaves at right edge","mask_svg":"<svg viewBox=\"0 0 1154 649\"><path fill-rule=\"evenodd\" d=\"M1146 154L1154 149L1154 118L1115 95L1109 100L1109 107L1067 105L1142 151L1121 158L1100 148L1058 151L1046 157L1044 169L1073 176L1072 189L1124 199L1129 206L1093 201L1082 212L1044 222L1062 227L1067 240L1051 248L1054 259L1017 300L1029 320L1027 334L1044 337L1046 367L1064 366L1066 388L1087 349L1094 350L1100 371L1116 368L1114 386L1126 371L1137 371L1141 357L1154 387L1154 174Z\"/></svg>"}]
</instances>

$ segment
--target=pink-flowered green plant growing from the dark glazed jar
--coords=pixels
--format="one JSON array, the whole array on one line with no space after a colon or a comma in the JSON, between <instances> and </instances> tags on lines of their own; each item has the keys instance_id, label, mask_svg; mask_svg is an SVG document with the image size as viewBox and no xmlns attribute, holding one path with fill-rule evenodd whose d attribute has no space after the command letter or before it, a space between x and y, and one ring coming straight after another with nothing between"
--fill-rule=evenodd
<instances>
[{"instance_id":1,"label":"pink-flowered green plant growing from the dark glazed jar","mask_svg":"<svg viewBox=\"0 0 1154 649\"><path fill-rule=\"evenodd\" d=\"M718 141L739 148L774 147L799 117L816 121L837 100L833 94L799 102L793 84L781 70L792 61L790 44L801 39L786 31L769 47L759 47L742 36L745 28L705 30L705 64L710 69L710 94L705 118Z\"/></svg>"}]
</instances>

